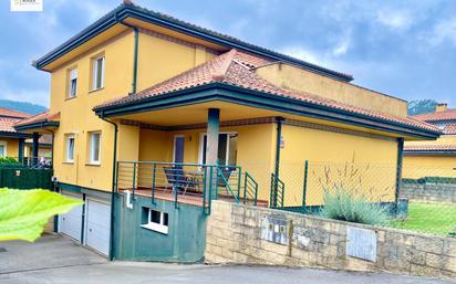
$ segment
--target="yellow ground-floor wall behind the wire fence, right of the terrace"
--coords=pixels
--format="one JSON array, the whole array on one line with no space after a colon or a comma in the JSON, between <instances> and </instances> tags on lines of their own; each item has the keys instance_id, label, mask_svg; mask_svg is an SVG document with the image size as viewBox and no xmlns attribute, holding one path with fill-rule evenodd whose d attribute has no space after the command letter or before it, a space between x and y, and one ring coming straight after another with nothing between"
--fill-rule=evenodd
<instances>
[{"instance_id":1,"label":"yellow ground-floor wall behind the wire fence, right of the terrace","mask_svg":"<svg viewBox=\"0 0 456 284\"><path fill-rule=\"evenodd\" d=\"M341 188L374 201L393 201L397 141L284 125L280 179L287 207L302 204L309 160L307 204L322 204L323 190Z\"/></svg>"}]
</instances>

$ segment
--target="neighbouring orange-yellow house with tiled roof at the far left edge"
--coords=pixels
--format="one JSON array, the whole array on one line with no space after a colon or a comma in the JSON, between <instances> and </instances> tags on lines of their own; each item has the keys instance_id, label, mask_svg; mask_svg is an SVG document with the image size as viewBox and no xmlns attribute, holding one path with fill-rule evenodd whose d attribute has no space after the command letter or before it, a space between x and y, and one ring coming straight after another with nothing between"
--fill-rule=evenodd
<instances>
[{"instance_id":1,"label":"neighbouring orange-yellow house with tiled roof at the far left edge","mask_svg":"<svg viewBox=\"0 0 456 284\"><path fill-rule=\"evenodd\" d=\"M0 157L23 157L24 140L31 136L17 132L13 125L29 116L0 107Z\"/></svg>"}]
</instances>

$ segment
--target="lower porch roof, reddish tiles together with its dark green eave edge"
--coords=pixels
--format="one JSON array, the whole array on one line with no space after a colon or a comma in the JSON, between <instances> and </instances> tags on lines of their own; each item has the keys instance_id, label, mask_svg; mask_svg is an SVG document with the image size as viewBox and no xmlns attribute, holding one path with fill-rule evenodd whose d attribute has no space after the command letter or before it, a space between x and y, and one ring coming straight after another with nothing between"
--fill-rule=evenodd
<instances>
[{"instance_id":1,"label":"lower porch roof, reddish tiles together with its dark green eave edge","mask_svg":"<svg viewBox=\"0 0 456 284\"><path fill-rule=\"evenodd\" d=\"M320 97L309 93L298 93L284 90L263 80L252 70L252 59L255 56L231 50L226 52L209 62L206 62L195 69L184 72L175 77L166 80L139 93L125 95L117 99L108 101L94 108L96 113L104 114L106 111L122 108L123 106L141 104L147 99L158 98L160 96L169 96L174 93L195 90L197 87L210 86L231 86L242 91L250 91L266 96L272 95L274 98L291 98L298 104L304 103L314 108L324 108L333 113L343 113L350 116L363 117L370 120L380 120L386 124L395 124L405 128L415 129L428 133L434 138L442 134L442 130L436 126L414 119L412 117L398 117L390 114L374 112L356 106L351 106ZM261 99L261 98L260 98Z\"/></svg>"}]
</instances>

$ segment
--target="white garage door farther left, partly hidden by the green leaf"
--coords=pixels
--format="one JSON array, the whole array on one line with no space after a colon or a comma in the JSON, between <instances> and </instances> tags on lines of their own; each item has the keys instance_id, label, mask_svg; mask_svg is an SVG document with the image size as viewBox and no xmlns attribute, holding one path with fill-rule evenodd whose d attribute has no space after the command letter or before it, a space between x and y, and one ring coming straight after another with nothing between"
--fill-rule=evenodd
<instances>
[{"instance_id":1,"label":"white garage door farther left, partly hidden by the green leaf","mask_svg":"<svg viewBox=\"0 0 456 284\"><path fill-rule=\"evenodd\" d=\"M74 193L62 193L62 196L82 200L82 196ZM82 206L73 208L66 214L59 215L59 232L70 235L74 240L81 242L81 229L82 229Z\"/></svg>"}]
</instances>

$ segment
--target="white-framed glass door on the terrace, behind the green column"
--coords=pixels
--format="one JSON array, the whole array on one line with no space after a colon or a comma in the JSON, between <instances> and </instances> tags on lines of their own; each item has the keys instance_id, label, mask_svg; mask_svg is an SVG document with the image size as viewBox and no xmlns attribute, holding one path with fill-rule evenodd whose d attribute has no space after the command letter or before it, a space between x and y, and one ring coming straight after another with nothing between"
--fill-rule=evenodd
<instances>
[{"instance_id":1,"label":"white-framed glass door on the terrace, behind the green column","mask_svg":"<svg viewBox=\"0 0 456 284\"><path fill-rule=\"evenodd\" d=\"M200 164L206 164L207 134L203 135L200 144ZM238 154L238 134L224 133L218 135L218 154L219 165L236 166Z\"/></svg>"}]
</instances>

